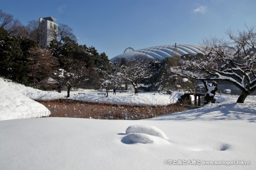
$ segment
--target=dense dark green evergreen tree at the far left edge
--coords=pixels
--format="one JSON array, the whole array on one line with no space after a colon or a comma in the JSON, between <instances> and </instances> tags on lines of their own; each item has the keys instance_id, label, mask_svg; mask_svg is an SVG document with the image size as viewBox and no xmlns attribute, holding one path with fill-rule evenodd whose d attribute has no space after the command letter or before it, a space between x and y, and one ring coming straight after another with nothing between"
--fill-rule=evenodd
<instances>
[{"instance_id":1,"label":"dense dark green evergreen tree at the far left edge","mask_svg":"<svg viewBox=\"0 0 256 170\"><path fill-rule=\"evenodd\" d=\"M0 27L0 71L1 75L14 81L29 83L27 76L27 61L30 48L36 47L35 41L9 36L3 27Z\"/></svg>"}]
</instances>

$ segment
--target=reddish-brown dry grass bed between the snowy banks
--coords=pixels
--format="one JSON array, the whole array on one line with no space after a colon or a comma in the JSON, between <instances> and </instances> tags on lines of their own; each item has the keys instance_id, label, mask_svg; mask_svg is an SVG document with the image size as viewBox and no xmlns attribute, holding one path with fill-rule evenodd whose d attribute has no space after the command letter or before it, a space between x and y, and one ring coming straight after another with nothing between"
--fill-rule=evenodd
<instances>
[{"instance_id":1,"label":"reddish-brown dry grass bed between the snowy banks","mask_svg":"<svg viewBox=\"0 0 256 170\"><path fill-rule=\"evenodd\" d=\"M77 117L94 119L138 120L152 118L169 113L194 109L193 106L172 104L160 107L117 106L110 104L87 103L72 100L37 101L50 111L50 117Z\"/></svg>"}]
</instances>

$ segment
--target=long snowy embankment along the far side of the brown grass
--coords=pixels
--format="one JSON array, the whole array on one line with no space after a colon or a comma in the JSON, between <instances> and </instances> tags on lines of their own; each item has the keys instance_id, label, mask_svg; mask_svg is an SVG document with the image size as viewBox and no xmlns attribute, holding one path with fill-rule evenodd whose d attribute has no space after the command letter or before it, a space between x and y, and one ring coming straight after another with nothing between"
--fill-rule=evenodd
<instances>
[{"instance_id":1,"label":"long snowy embankment along the far side of the brown grass","mask_svg":"<svg viewBox=\"0 0 256 170\"><path fill-rule=\"evenodd\" d=\"M67 99L67 91L62 91L58 93L56 91L42 91L34 89L32 87L26 87L22 84L12 83L7 79L0 78L0 87L8 87L16 92L26 95L32 100L57 100L57 99ZM79 92L86 93L85 95L78 95ZM118 105L136 105L136 106L166 106L172 103L176 103L183 93L174 93L173 95L168 94L158 94L155 93L140 93L139 95L134 95L133 92L130 93L120 93L117 92L113 95L113 92L109 92L108 98L105 95L97 94L97 91L70 91L70 100L78 100L84 102L93 103L108 103L108 104L118 104ZM102 92L100 92L102 93ZM103 92L105 93L105 92Z\"/></svg>"}]
</instances>

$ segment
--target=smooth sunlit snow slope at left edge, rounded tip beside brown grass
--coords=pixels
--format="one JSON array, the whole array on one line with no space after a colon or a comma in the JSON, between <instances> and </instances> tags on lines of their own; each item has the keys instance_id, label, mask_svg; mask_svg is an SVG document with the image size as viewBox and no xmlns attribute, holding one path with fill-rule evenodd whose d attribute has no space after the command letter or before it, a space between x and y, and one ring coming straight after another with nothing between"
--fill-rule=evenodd
<instances>
[{"instance_id":1,"label":"smooth sunlit snow slope at left edge, rounded tip beside brown grass","mask_svg":"<svg viewBox=\"0 0 256 170\"><path fill-rule=\"evenodd\" d=\"M48 116L42 104L6 86L0 86L0 120Z\"/></svg>"}]
</instances>

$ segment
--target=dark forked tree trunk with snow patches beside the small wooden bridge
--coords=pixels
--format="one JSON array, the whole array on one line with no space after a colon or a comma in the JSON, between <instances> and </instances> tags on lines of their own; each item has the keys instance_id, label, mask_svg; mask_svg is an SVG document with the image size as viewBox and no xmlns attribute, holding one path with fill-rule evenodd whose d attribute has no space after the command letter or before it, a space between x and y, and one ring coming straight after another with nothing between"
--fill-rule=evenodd
<instances>
[{"instance_id":1,"label":"dark forked tree trunk with snow patches beside the small wooden bridge","mask_svg":"<svg viewBox=\"0 0 256 170\"><path fill-rule=\"evenodd\" d=\"M208 103L215 103L216 100L214 99L214 96L216 94L216 91L218 90L218 83L219 83L219 81L213 81L211 83L212 86L210 87L208 85L207 81L203 81L204 87L207 90L207 93L204 96L204 104L205 105L208 104ZM200 98L200 96L199 96L199 98Z\"/></svg>"}]
</instances>

